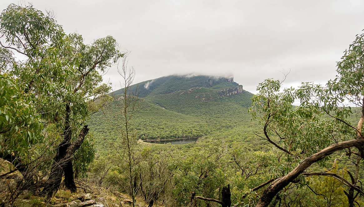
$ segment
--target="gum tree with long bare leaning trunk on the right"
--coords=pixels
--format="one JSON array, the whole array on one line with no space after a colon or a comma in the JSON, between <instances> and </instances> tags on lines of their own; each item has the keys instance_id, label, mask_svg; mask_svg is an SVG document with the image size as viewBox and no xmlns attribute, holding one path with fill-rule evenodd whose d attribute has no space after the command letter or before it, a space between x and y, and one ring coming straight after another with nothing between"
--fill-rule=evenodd
<instances>
[{"instance_id":1,"label":"gum tree with long bare leaning trunk on the right","mask_svg":"<svg viewBox=\"0 0 364 207\"><path fill-rule=\"evenodd\" d=\"M310 172L313 163L324 164L332 153L343 150L346 156L357 157L360 164L364 158L362 133L364 120L364 34L345 51L337 63L335 79L326 86L302 83L298 89L285 88L281 91L278 80L267 79L259 84L259 91L253 97L250 109L254 119L263 127L265 140L280 149L291 163L283 174L262 192L256 206L268 206L274 196L291 182L303 181L302 175L326 175L337 179L335 173ZM281 92L280 92L281 91ZM293 107L295 100L300 105ZM344 103L355 104L359 113L353 114L351 107ZM351 117L350 117L351 116ZM355 122L350 120L357 117ZM364 193L357 185L358 180L350 172L351 180L341 179L346 185L345 195L349 206L354 206L357 196Z\"/></svg>"}]
</instances>

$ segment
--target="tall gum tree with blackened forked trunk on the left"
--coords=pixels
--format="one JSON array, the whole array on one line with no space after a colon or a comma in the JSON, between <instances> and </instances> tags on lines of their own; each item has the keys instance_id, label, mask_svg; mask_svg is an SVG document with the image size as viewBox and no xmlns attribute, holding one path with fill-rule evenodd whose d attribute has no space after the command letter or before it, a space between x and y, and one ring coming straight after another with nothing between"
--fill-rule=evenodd
<instances>
[{"instance_id":1,"label":"tall gum tree with blackened forked trunk on the left","mask_svg":"<svg viewBox=\"0 0 364 207\"><path fill-rule=\"evenodd\" d=\"M88 134L89 116L102 107L103 98L110 90L108 85L101 84L101 74L123 54L111 36L86 45L81 35L65 34L50 15L31 5L11 4L1 13L0 37L1 50L7 51L2 55L1 64L11 65L1 69L1 73L16 79L25 97L32 96L36 112L31 117L41 116L45 132L52 125L58 129L54 132L60 133L55 135L60 138L56 140L59 145L42 193L52 195L63 175L66 187L74 191L72 156ZM11 53L24 58L11 63ZM40 129L38 135L39 132ZM20 147L27 148L29 144L24 142ZM94 151L86 151L80 156L86 156L83 160L90 163L93 156L88 153ZM8 160L11 154L22 156L19 149L2 154Z\"/></svg>"}]
</instances>

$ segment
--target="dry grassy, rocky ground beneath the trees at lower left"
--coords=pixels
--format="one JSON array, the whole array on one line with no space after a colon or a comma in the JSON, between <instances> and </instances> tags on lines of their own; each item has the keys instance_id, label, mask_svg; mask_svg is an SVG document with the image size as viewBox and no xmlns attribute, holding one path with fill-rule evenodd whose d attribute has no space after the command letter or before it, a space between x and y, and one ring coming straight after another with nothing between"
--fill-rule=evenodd
<instances>
[{"instance_id":1,"label":"dry grassy, rocky ground beneath the trees at lower left","mask_svg":"<svg viewBox=\"0 0 364 207\"><path fill-rule=\"evenodd\" d=\"M0 159L0 176L7 174L14 167L7 161ZM116 187L95 185L92 181L77 180L77 192L72 193L70 190L60 189L52 198L43 198L33 196L27 190L19 189L19 182L23 177L19 171L9 173L0 177L0 206L4 207L50 207L59 203L67 203L76 200L79 196L90 194L92 199L98 203L103 203L105 207L128 207L130 204L124 203L123 200L129 199L130 196L118 192ZM142 198L137 197L135 206L146 207L148 204L143 202ZM157 203L154 206L159 206Z\"/></svg>"}]
</instances>

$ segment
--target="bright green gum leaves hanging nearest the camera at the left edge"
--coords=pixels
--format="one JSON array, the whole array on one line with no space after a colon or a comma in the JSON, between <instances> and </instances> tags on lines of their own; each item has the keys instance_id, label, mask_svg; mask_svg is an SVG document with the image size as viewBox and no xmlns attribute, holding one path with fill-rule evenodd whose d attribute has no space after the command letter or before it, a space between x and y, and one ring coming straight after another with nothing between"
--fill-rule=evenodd
<instances>
[{"instance_id":1,"label":"bright green gum leaves hanging nearest the camera at the left edge","mask_svg":"<svg viewBox=\"0 0 364 207\"><path fill-rule=\"evenodd\" d=\"M0 86L0 156L17 152L21 161L29 161L34 150L30 144L38 142L43 129L33 95L24 94L7 74L0 74Z\"/></svg>"}]
</instances>

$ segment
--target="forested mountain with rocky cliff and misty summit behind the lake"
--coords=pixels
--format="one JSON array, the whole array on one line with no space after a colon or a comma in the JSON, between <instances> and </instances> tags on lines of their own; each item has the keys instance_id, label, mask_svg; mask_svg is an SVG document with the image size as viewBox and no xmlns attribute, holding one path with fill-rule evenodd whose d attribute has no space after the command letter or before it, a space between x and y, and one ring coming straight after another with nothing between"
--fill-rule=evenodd
<instances>
[{"instance_id":1,"label":"forested mountain with rocky cliff and misty summit behind the lake","mask_svg":"<svg viewBox=\"0 0 364 207\"><path fill-rule=\"evenodd\" d=\"M263 147L253 133L261 130L248 112L253 94L233 78L171 75L135 84L131 90L137 88L143 99L132 122L138 138L208 137L241 142L249 149ZM121 95L122 90L114 91L115 99ZM108 147L104 140L118 136L102 112L92 115L89 126L99 150Z\"/></svg>"}]
</instances>

